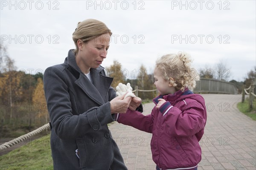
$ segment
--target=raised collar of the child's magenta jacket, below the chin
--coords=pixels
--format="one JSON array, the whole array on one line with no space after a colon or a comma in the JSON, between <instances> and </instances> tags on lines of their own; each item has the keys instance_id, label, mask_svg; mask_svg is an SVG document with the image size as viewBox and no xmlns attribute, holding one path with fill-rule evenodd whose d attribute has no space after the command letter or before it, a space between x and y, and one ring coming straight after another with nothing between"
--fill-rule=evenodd
<instances>
[{"instance_id":1,"label":"raised collar of the child's magenta jacket, below the chin","mask_svg":"<svg viewBox=\"0 0 256 170\"><path fill-rule=\"evenodd\" d=\"M153 99L153 102L155 104L157 104L159 101L158 99L165 99L166 101L169 101L169 102L174 102L176 101L180 96L183 96L183 95L188 95L188 94L193 94L192 91L190 91L188 88L185 88L184 91L176 91L174 94L167 94L167 95L159 95L157 97L155 97Z\"/></svg>"}]
</instances>

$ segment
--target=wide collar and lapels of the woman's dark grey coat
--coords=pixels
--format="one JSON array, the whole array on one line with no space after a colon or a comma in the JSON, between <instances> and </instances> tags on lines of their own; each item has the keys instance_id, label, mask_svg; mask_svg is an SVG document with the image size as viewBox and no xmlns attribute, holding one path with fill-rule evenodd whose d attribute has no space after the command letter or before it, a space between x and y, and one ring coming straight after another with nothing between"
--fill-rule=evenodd
<instances>
[{"instance_id":1,"label":"wide collar and lapels of the woman's dark grey coat","mask_svg":"<svg viewBox=\"0 0 256 170\"><path fill-rule=\"evenodd\" d=\"M73 72L79 74L79 78L75 83L84 91L85 94L87 94L87 96L99 105L103 105L108 101L106 98L113 78L100 74L104 70L102 66L99 66L98 68L90 68L90 75L93 81L93 83L91 83L76 64L75 54L72 49L68 52L68 56L64 63L67 63L72 67Z\"/></svg>"}]
</instances>

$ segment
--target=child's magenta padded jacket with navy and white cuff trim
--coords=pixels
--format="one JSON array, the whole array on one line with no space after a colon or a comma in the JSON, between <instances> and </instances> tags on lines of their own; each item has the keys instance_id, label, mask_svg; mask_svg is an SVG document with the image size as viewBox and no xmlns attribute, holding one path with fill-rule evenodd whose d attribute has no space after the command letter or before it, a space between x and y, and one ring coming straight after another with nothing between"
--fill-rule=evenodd
<instances>
[{"instance_id":1,"label":"child's magenta padded jacket with navy and white cuff trim","mask_svg":"<svg viewBox=\"0 0 256 170\"><path fill-rule=\"evenodd\" d=\"M166 102L144 116L138 111L119 114L117 122L152 133L151 151L154 162L163 170L195 167L201 161L199 141L204 134L207 110L204 98L192 91L157 96Z\"/></svg>"}]
</instances>

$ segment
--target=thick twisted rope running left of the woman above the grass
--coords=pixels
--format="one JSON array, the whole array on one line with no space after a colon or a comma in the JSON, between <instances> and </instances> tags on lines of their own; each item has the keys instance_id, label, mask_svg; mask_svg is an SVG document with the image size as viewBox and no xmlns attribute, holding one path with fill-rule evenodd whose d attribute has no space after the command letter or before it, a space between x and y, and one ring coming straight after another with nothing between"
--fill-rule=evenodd
<instances>
[{"instance_id":1,"label":"thick twisted rope running left of the woman above the grass","mask_svg":"<svg viewBox=\"0 0 256 170\"><path fill-rule=\"evenodd\" d=\"M20 142L23 142L24 140L31 138L32 136L35 136L38 133L41 133L44 130L47 130L50 127L49 123L45 124L44 126L41 126L37 128L36 130L33 130L32 132L27 133L26 135L20 136L18 138L15 138L9 142L6 142L4 144L0 145L0 151L5 150L9 147L12 147L15 144L18 144Z\"/></svg>"}]
</instances>

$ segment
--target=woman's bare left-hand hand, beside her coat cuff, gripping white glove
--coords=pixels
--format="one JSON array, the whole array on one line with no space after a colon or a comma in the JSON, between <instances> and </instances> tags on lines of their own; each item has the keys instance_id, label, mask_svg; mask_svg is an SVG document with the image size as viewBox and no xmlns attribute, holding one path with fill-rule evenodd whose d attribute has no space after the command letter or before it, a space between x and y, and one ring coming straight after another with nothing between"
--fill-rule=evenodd
<instances>
[{"instance_id":1,"label":"woman's bare left-hand hand, beside her coat cuff, gripping white glove","mask_svg":"<svg viewBox=\"0 0 256 170\"><path fill-rule=\"evenodd\" d=\"M111 105L111 114L113 113L125 113L127 111L128 106L131 103L131 96L125 98L125 95L117 96L110 101ZM125 98L125 99L124 99Z\"/></svg>"}]
</instances>

